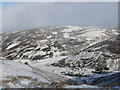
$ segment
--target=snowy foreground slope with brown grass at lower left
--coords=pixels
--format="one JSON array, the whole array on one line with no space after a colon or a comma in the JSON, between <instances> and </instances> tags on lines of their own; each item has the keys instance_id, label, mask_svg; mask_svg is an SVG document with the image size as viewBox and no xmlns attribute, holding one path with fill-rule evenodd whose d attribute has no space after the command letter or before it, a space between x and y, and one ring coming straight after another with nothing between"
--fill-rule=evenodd
<instances>
[{"instance_id":1,"label":"snowy foreground slope with brown grass at lower left","mask_svg":"<svg viewBox=\"0 0 120 90\"><path fill-rule=\"evenodd\" d=\"M2 87L7 88L50 88L53 83L61 83L65 78L59 75L36 69L20 62L0 60ZM53 85L52 85L53 84ZM59 86L60 87L60 86Z\"/></svg>"}]
</instances>

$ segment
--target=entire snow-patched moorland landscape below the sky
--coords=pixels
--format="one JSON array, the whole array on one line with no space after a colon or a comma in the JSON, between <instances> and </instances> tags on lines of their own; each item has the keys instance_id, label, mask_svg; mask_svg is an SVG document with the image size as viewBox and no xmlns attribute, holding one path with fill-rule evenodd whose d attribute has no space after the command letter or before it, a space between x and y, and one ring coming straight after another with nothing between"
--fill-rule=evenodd
<instances>
[{"instance_id":1,"label":"entire snow-patched moorland landscape below the sky","mask_svg":"<svg viewBox=\"0 0 120 90\"><path fill-rule=\"evenodd\" d=\"M48 26L0 37L0 88L120 87L115 28Z\"/></svg>"}]
</instances>

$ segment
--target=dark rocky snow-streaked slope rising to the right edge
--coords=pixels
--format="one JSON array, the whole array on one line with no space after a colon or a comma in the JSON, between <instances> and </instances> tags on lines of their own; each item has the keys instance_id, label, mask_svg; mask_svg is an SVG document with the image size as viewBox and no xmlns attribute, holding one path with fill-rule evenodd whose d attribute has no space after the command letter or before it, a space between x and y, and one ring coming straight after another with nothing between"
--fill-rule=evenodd
<instances>
[{"instance_id":1,"label":"dark rocky snow-streaked slope rising to the right edge","mask_svg":"<svg viewBox=\"0 0 120 90\"><path fill-rule=\"evenodd\" d=\"M106 68L120 70L120 35L97 43L87 49L59 61L59 65L71 68ZM57 64L57 63L56 63Z\"/></svg>"}]
</instances>

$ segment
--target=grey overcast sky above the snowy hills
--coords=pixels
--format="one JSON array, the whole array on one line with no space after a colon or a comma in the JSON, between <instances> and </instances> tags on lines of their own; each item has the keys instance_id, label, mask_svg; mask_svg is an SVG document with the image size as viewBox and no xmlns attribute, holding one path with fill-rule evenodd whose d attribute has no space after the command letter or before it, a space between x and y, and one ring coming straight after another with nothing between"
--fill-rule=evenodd
<instances>
[{"instance_id":1,"label":"grey overcast sky above the snowy hills","mask_svg":"<svg viewBox=\"0 0 120 90\"><path fill-rule=\"evenodd\" d=\"M2 30L41 26L117 26L117 2L3 3Z\"/></svg>"}]
</instances>

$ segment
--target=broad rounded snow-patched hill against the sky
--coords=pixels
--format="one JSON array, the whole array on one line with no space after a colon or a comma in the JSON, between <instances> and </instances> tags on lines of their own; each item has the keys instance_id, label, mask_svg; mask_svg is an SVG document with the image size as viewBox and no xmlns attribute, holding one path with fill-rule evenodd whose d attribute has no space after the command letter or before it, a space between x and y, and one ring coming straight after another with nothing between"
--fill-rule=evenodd
<instances>
[{"instance_id":1,"label":"broad rounded snow-patched hill against the sky","mask_svg":"<svg viewBox=\"0 0 120 90\"><path fill-rule=\"evenodd\" d=\"M100 27L54 26L2 34L2 53L7 59L40 60L75 54L117 35Z\"/></svg>"}]
</instances>

